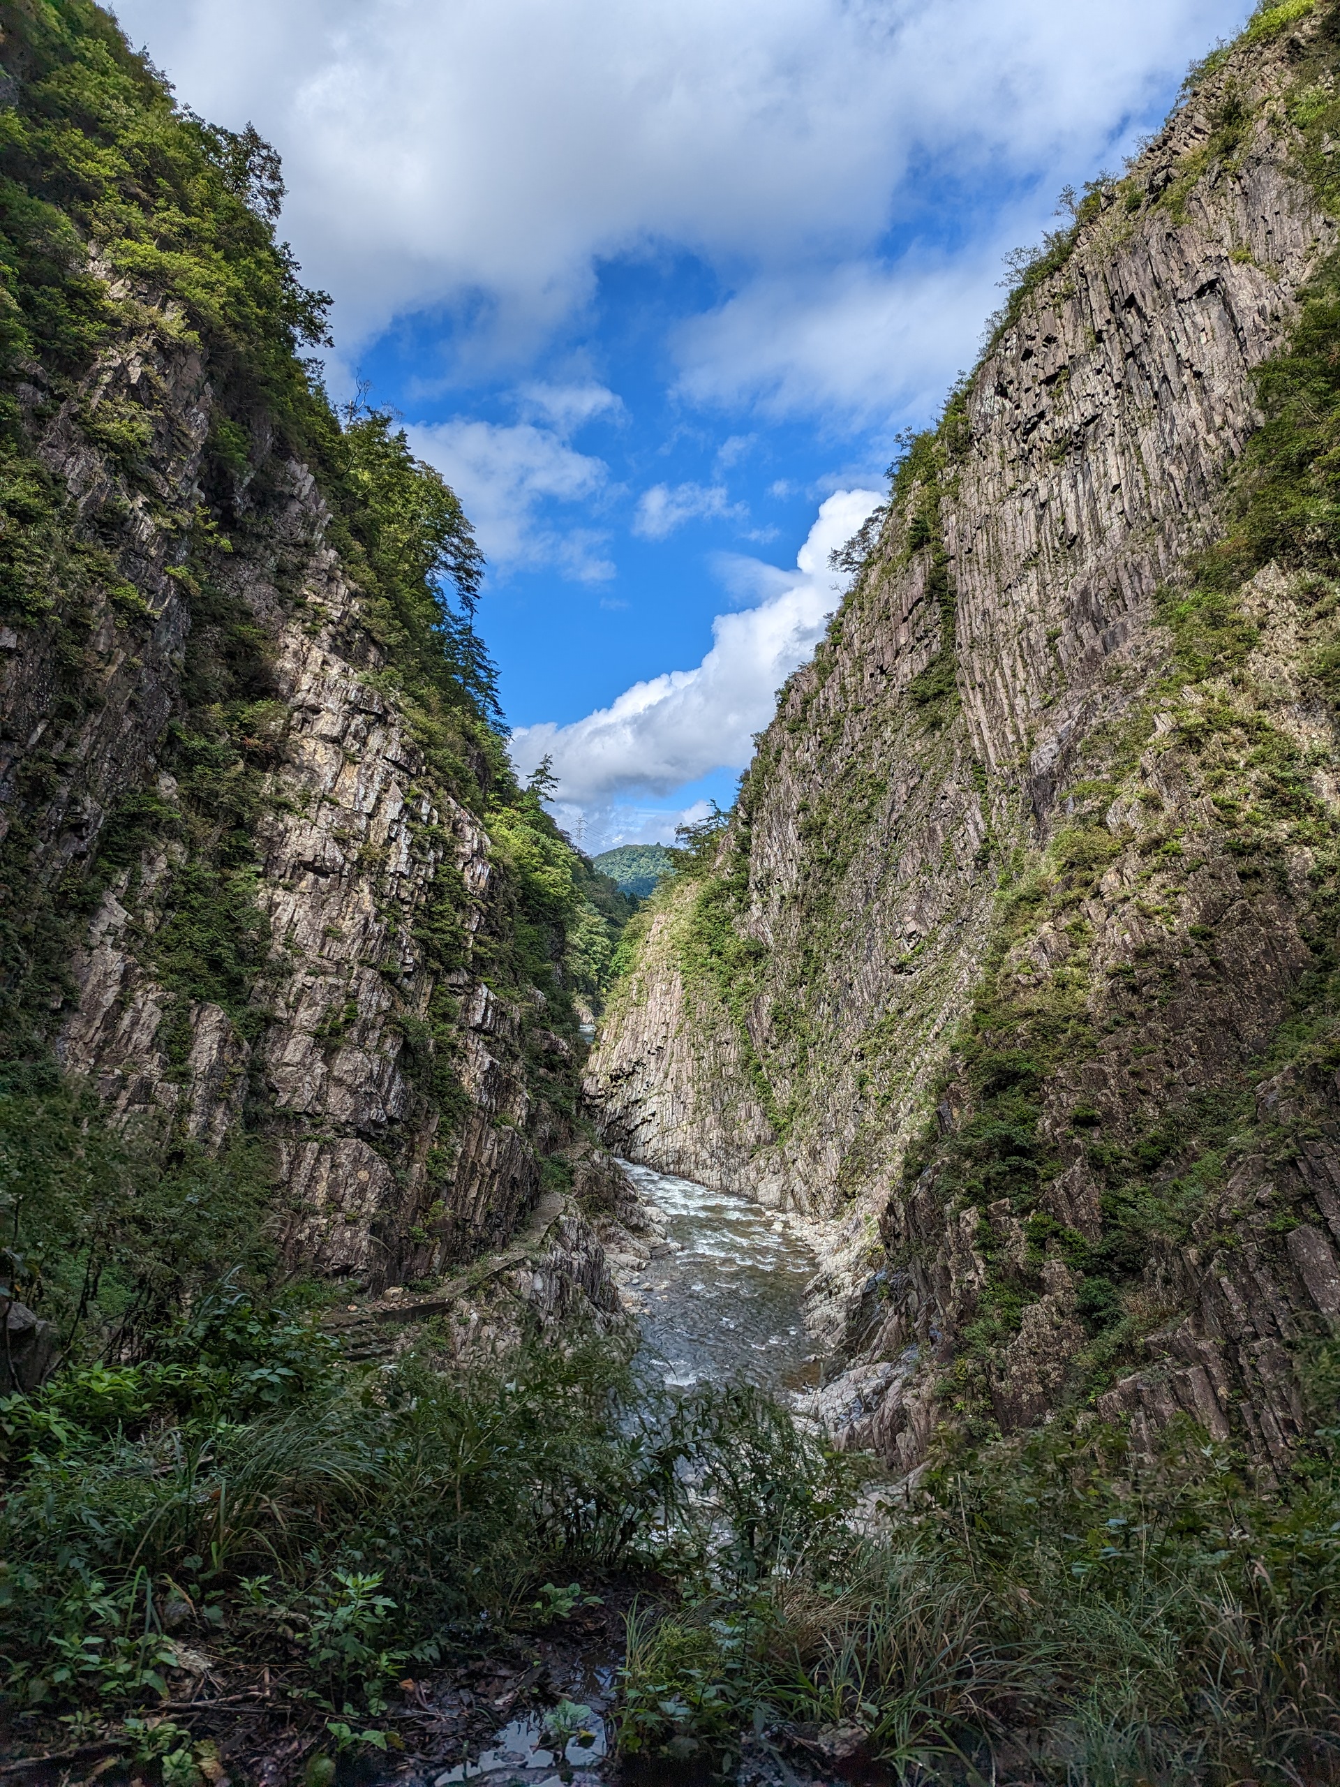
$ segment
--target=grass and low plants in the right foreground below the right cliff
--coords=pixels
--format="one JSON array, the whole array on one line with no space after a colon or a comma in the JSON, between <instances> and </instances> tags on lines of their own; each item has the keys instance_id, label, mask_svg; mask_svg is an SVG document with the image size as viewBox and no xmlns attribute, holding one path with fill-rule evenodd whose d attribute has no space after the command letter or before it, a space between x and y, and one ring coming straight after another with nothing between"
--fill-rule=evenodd
<instances>
[{"instance_id":1,"label":"grass and low plants in the right foreground below the right cliff","mask_svg":"<svg viewBox=\"0 0 1340 1787\"><path fill-rule=\"evenodd\" d=\"M1058 1430L729 1607L634 1619L624 1744L727 1755L752 1728L913 1780L1335 1780L1338 1612L1326 1458L1258 1494L1193 1430L1143 1467Z\"/></svg>"}]
</instances>

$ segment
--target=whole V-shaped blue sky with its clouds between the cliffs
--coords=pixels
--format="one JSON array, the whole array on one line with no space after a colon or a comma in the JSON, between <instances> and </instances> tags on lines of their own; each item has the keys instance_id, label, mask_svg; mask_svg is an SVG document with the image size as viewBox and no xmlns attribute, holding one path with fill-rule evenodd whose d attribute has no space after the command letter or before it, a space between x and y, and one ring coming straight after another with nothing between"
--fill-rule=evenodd
<instances>
[{"instance_id":1,"label":"whole V-shaped blue sky with its clouds between the cliffs","mask_svg":"<svg viewBox=\"0 0 1340 1787\"><path fill-rule=\"evenodd\" d=\"M1245 0L120 0L459 490L515 756L591 851L729 802L1061 186Z\"/></svg>"}]
</instances>

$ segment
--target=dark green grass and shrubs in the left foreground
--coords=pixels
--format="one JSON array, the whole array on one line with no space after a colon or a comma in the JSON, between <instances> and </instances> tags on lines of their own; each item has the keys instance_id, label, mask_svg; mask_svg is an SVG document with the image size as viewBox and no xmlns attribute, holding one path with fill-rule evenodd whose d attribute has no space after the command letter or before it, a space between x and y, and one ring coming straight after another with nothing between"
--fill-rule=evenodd
<instances>
[{"instance_id":1,"label":"dark green grass and shrubs in the left foreground","mask_svg":"<svg viewBox=\"0 0 1340 1787\"><path fill-rule=\"evenodd\" d=\"M657 1394L609 1342L350 1365L313 1312L223 1292L147 1349L0 1401L11 1735L143 1730L204 1653L384 1746L397 1682L534 1624L547 1580L765 1580L852 1499L765 1399Z\"/></svg>"}]
</instances>

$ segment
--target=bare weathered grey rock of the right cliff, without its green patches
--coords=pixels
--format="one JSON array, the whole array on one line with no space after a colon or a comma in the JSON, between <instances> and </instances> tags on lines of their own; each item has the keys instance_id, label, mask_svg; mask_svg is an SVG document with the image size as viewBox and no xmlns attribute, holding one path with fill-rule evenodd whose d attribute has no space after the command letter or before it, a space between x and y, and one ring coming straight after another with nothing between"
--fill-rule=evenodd
<instances>
[{"instance_id":1,"label":"bare weathered grey rock of the right cliff, without its green patches","mask_svg":"<svg viewBox=\"0 0 1340 1787\"><path fill-rule=\"evenodd\" d=\"M913 490L783 690L722 843L720 867L747 888L734 924L758 958L749 997L731 1008L702 951L686 952L699 885L684 883L659 901L590 1063L591 1099L631 1158L842 1217L843 1233L877 1224L897 1265L890 1296L868 1331L868 1247L834 1265L825 1297L843 1310L850 1378L825 1397L845 1444L902 1469L943 1417L940 1383L990 1269L1024 1263L1008 1199L959 1206L933 1172L902 1185L917 1131L933 1120L951 1135L970 1110L951 1049L1001 936L1002 872L1058 836L1076 767L1111 754L1104 740L1149 709L1168 665L1156 593L1220 529L1226 475L1258 422L1252 370L1336 239L1279 105L1290 55L1279 38L1244 43L1195 89L1133 166L1135 209L1099 207L967 386L938 508L956 704L934 724L913 688L945 647L934 558L909 533ZM1254 123L1213 161L1231 91ZM1145 202L1174 179L1176 206ZM1336 820L1335 727L1304 690L1311 634L1294 586L1267 566L1242 606L1258 629L1242 672L1181 701L1254 704L1319 765L1311 786ZM1051 1074L1040 1122L1059 1160L1043 1210L1088 1240L1104 1228L1102 1183L1070 1112L1088 1104L1099 1133L1129 1138L1167 1110L1168 1088L1188 1099L1236 1083L1315 960L1308 851L1292 849L1270 885L1242 872L1176 708L1168 695L1122 770L1095 894L1063 926L1047 913L1022 926L999 967L1018 990L1092 988L1095 1044ZM1179 833L1195 838L1181 860ZM1108 1024L1120 999L1143 1003L1138 1026ZM1138 1444L1181 1412L1272 1465L1306 1426L1295 1360L1340 1313L1340 1126L1333 1088L1295 1095L1313 1129L1324 1110L1324 1135L1294 1165L1240 1160L1193 1242L1145 1272L1135 1315L1151 1363L1099 1401ZM1301 1226L1285 1235L1288 1213ZM990 1405L1006 1428L1068 1394L1085 1331L1065 1271L1045 1262L993 1356ZM1163 1351L1160 1324L1177 1337Z\"/></svg>"}]
</instances>

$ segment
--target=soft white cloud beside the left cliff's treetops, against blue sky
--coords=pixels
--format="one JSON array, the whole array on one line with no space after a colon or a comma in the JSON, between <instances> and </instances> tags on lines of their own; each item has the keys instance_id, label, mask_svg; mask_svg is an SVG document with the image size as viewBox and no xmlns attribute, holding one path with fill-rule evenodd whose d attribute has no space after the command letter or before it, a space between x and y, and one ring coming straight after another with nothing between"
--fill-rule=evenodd
<instances>
[{"instance_id":1,"label":"soft white cloud beside the left cliff's treetops, against blue sky","mask_svg":"<svg viewBox=\"0 0 1340 1787\"><path fill-rule=\"evenodd\" d=\"M406 434L418 457L434 465L461 499L495 570L550 565L575 583L604 583L615 575L604 556L604 533L561 531L538 516L547 500L597 499L609 475L604 459L577 452L559 432L534 422L457 416L415 424Z\"/></svg>"}]
</instances>

